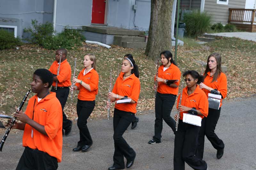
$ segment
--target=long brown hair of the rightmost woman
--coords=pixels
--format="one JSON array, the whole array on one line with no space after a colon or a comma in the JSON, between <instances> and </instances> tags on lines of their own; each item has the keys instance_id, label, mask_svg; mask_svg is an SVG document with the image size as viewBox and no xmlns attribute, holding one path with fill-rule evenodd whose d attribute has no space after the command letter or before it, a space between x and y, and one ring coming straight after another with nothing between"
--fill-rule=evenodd
<instances>
[{"instance_id":1,"label":"long brown hair of the rightmost woman","mask_svg":"<svg viewBox=\"0 0 256 170\"><path fill-rule=\"evenodd\" d=\"M210 57L214 57L214 58L216 59L216 62L217 62L217 70L216 70L216 72L213 74L213 79L212 79L212 82L214 82L214 81L216 81L217 78L220 76L220 73L223 72L223 71L221 70L221 56L220 56L219 53L213 53L213 54L211 54L211 55L208 56L206 69L205 69L205 71L204 71L204 78L207 76L207 73L208 73L209 71L211 71L211 69L209 68L209 62L208 62Z\"/></svg>"}]
</instances>

